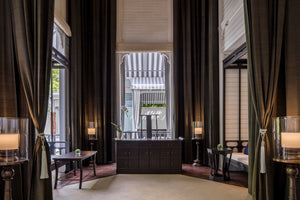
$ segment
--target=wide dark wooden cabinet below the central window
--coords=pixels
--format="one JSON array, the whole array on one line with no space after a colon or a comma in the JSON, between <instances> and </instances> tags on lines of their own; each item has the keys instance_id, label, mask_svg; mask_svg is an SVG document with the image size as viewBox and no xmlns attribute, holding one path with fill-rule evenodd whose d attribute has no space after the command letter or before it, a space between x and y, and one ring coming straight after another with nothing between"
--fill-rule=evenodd
<instances>
[{"instance_id":1,"label":"wide dark wooden cabinet below the central window","mask_svg":"<svg viewBox=\"0 0 300 200\"><path fill-rule=\"evenodd\" d=\"M181 140L115 140L117 173L181 173Z\"/></svg>"}]
</instances>

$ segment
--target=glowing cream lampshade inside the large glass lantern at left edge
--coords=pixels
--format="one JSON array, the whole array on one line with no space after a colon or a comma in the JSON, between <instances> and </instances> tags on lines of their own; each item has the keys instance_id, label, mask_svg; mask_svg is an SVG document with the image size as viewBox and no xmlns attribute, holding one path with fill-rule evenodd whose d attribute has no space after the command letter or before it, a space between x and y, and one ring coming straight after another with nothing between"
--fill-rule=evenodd
<instances>
[{"instance_id":1,"label":"glowing cream lampshade inside the large glass lantern at left edge","mask_svg":"<svg viewBox=\"0 0 300 200\"><path fill-rule=\"evenodd\" d=\"M20 144L19 133L0 134L0 150L17 150Z\"/></svg>"}]
</instances>

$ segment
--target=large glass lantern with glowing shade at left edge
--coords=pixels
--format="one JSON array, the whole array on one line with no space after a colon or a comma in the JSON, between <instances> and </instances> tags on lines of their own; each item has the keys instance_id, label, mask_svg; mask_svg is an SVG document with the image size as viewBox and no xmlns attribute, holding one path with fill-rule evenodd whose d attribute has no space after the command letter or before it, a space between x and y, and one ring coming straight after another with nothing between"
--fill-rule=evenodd
<instances>
[{"instance_id":1,"label":"large glass lantern with glowing shade at left edge","mask_svg":"<svg viewBox=\"0 0 300 200\"><path fill-rule=\"evenodd\" d=\"M0 163L28 159L28 119L0 117Z\"/></svg>"}]
</instances>

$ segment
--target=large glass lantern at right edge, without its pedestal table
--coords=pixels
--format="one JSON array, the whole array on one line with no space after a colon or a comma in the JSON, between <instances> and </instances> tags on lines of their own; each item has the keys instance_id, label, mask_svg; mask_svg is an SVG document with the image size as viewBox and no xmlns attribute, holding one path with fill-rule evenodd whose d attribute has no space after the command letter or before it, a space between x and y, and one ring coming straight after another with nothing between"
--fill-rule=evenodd
<instances>
[{"instance_id":1,"label":"large glass lantern at right edge, without its pedestal table","mask_svg":"<svg viewBox=\"0 0 300 200\"><path fill-rule=\"evenodd\" d=\"M274 160L300 163L300 116L273 118Z\"/></svg>"}]
</instances>

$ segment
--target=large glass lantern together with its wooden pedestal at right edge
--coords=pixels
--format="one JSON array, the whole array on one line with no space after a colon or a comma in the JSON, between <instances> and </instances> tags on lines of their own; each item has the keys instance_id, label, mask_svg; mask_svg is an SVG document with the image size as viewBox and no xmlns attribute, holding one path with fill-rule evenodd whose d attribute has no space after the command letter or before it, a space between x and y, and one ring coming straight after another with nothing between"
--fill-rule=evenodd
<instances>
[{"instance_id":1,"label":"large glass lantern together with its wooden pedestal at right edge","mask_svg":"<svg viewBox=\"0 0 300 200\"><path fill-rule=\"evenodd\" d=\"M286 163L289 178L288 199L296 200L297 165L300 164L300 116L273 118L274 157L273 160Z\"/></svg>"}]
</instances>

